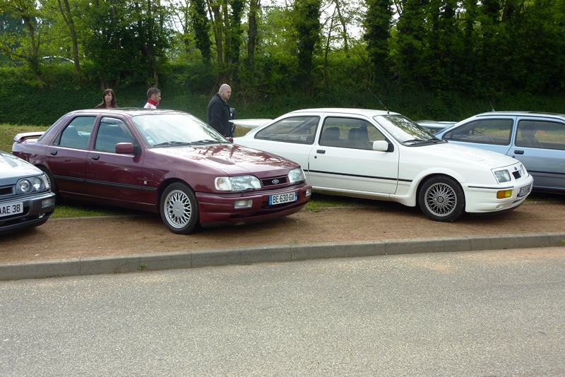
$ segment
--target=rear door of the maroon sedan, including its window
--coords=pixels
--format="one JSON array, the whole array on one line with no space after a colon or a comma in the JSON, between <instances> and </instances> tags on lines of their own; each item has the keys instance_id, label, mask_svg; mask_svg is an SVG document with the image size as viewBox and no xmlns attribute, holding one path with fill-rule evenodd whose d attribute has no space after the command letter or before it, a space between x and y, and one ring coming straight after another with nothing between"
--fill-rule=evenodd
<instances>
[{"instance_id":1,"label":"rear door of the maroon sedan, including its window","mask_svg":"<svg viewBox=\"0 0 565 377\"><path fill-rule=\"evenodd\" d=\"M76 116L47 147L45 160L63 196L88 193L86 158L96 116Z\"/></svg>"}]
</instances>

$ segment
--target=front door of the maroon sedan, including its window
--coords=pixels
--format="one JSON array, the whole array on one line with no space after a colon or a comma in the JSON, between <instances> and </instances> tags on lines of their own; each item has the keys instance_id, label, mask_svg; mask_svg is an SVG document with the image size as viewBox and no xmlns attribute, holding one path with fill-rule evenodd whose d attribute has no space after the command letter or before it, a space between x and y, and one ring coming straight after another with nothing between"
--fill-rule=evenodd
<instances>
[{"instance_id":1,"label":"front door of the maroon sedan, including its window","mask_svg":"<svg viewBox=\"0 0 565 377\"><path fill-rule=\"evenodd\" d=\"M118 154L117 143L136 145L136 153ZM90 196L107 198L114 205L127 207L150 201L143 179L143 152L139 145L123 119L110 116L100 119L93 148L87 157ZM133 208L136 207L138 205L133 204Z\"/></svg>"}]
</instances>

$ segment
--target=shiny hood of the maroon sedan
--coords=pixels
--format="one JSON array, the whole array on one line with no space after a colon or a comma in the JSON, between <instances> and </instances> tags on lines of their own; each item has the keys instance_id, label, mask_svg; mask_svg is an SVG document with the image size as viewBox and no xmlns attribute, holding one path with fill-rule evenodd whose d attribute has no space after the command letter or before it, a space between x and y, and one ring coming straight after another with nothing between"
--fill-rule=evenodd
<instances>
[{"instance_id":1,"label":"shiny hood of the maroon sedan","mask_svg":"<svg viewBox=\"0 0 565 377\"><path fill-rule=\"evenodd\" d=\"M299 164L268 152L235 144L180 146L152 148L152 153L167 155L174 160L185 160L218 169L227 174L270 172L299 167ZM286 173L285 173L286 174Z\"/></svg>"}]
</instances>

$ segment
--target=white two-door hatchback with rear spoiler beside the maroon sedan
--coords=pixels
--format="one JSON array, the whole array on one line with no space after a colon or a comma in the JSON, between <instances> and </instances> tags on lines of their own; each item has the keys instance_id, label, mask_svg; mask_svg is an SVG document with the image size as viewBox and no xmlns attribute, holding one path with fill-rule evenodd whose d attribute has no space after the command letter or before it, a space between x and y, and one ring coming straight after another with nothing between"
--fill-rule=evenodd
<instances>
[{"instance_id":1,"label":"white two-door hatchback with rear spoiler beside the maroon sedan","mask_svg":"<svg viewBox=\"0 0 565 377\"><path fill-rule=\"evenodd\" d=\"M533 177L499 153L453 145L405 116L373 109L302 109L268 119L234 143L298 162L319 193L395 201L432 220L513 210Z\"/></svg>"}]
</instances>

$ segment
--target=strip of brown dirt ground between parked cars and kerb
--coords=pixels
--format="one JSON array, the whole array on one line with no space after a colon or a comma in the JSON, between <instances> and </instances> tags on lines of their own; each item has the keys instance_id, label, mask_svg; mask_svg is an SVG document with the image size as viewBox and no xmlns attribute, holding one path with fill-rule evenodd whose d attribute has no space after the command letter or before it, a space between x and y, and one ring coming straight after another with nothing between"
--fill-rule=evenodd
<instances>
[{"instance_id":1,"label":"strip of brown dirt ground between parked cars and kerb","mask_svg":"<svg viewBox=\"0 0 565 377\"><path fill-rule=\"evenodd\" d=\"M302 210L255 225L173 234L158 215L49 219L0 239L0 263L233 247L565 232L565 200L528 202L510 213L428 220L418 208L367 201L362 208Z\"/></svg>"}]
</instances>

